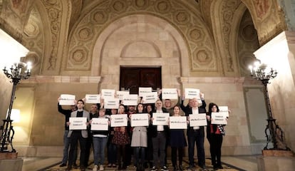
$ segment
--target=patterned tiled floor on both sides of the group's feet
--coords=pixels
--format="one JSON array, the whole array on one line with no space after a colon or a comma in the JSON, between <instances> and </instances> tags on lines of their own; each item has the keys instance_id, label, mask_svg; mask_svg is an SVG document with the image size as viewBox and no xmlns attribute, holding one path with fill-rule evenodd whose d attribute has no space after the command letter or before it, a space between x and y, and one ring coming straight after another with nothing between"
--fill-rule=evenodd
<instances>
[{"instance_id":1,"label":"patterned tiled floor on both sides of the group's feet","mask_svg":"<svg viewBox=\"0 0 295 171\"><path fill-rule=\"evenodd\" d=\"M61 157L23 157L23 171L39 171L57 165ZM257 156L222 156L224 165L238 167L242 170L257 171ZM66 167L54 167L53 170L64 170ZM91 165L88 170L90 170ZM109 169L106 169L109 170ZM133 170L133 169L129 169ZM196 169L197 170L197 169ZM209 170L211 170L209 168ZM224 167L223 170L229 170Z\"/></svg>"}]
</instances>

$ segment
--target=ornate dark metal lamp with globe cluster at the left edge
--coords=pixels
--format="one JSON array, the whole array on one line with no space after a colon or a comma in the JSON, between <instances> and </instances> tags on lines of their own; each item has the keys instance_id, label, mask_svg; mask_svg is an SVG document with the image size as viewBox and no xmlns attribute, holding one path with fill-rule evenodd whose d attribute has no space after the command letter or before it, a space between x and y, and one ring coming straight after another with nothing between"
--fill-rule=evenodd
<instances>
[{"instance_id":1,"label":"ornate dark metal lamp with globe cluster at the left edge","mask_svg":"<svg viewBox=\"0 0 295 171\"><path fill-rule=\"evenodd\" d=\"M14 104L16 86L20 83L21 80L28 79L31 76L31 63L14 63L14 65L11 66L9 70L4 67L3 72L7 78L11 79L13 87L11 92L9 110L6 119L3 120L4 123L0 128L0 130L2 130L0 137L0 152L16 152L14 146L12 145L12 140L14 139L14 127L12 126L13 120L11 120L11 109L12 105ZM11 145L11 151L9 151L9 145Z\"/></svg>"}]
</instances>

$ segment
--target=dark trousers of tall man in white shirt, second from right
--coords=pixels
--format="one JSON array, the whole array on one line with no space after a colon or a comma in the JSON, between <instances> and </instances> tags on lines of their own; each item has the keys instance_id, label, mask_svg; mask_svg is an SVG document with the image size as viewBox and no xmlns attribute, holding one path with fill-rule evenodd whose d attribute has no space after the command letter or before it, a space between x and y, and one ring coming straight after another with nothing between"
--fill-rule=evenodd
<instances>
[{"instance_id":1,"label":"dark trousers of tall man in white shirt, second from right","mask_svg":"<svg viewBox=\"0 0 295 171\"><path fill-rule=\"evenodd\" d=\"M194 165L195 144L197 146L197 163L205 166L204 130L187 130L188 153L190 165Z\"/></svg>"}]
</instances>

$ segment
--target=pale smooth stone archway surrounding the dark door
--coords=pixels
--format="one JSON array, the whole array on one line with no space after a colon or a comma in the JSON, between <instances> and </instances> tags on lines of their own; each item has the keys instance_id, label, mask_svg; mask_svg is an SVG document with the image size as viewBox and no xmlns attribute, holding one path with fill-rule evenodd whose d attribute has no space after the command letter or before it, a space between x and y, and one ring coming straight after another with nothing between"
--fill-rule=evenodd
<instances>
[{"instance_id":1,"label":"pale smooth stone archway surrounding the dark door","mask_svg":"<svg viewBox=\"0 0 295 171\"><path fill-rule=\"evenodd\" d=\"M118 90L120 66L160 66L162 86L180 88L177 79L189 72L189 54L180 33L167 21L130 15L110 24L93 48L91 75L101 76L100 88Z\"/></svg>"}]
</instances>

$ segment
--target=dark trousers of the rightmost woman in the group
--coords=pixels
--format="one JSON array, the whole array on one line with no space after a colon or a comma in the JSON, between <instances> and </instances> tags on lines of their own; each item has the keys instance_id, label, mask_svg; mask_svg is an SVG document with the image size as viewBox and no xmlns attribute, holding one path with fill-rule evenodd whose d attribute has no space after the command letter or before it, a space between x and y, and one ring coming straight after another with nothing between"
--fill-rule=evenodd
<instances>
[{"instance_id":1,"label":"dark trousers of the rightmost woman in the group","mask_svg":"<svg viewBox=\"0 0 295 171\"><path fill-rule=\"evenodd\" d=\"M221 166L222 134L209 135L211 162L213 166Z\"/></svg>"}]
</instances>

